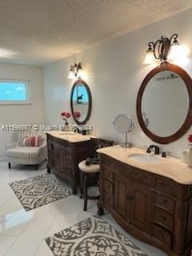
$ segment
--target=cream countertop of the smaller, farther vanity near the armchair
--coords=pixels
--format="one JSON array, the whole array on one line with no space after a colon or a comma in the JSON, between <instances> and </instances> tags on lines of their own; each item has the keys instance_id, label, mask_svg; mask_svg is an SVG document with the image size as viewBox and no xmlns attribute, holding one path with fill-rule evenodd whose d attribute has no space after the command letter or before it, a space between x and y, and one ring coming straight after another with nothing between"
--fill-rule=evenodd
<instances>
[{"instance_id":1,"label":"cream countertop of the smaller, farther vanity near the armchair","mask_svg":"<svg viewBox=\"0 0 192 256\"><path fill-rule=\"evenodd\" d=\"M58 131L58 130L47 131L46 134L50 134L55 138L60 138L71 143L89 141L90 137L94 137L90 135L75 134L72 131Z\"/></svg>"}]
</instances>

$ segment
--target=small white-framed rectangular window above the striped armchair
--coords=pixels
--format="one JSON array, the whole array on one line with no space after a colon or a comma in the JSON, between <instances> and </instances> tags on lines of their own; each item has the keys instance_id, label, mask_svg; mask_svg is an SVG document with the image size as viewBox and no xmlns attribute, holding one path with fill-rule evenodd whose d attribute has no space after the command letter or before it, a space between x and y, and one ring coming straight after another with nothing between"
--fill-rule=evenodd
<instances>
[{"instance_id":1,"label":"small white-framed rectangular window above the striped armchair","mask_svg":"<svg viewBox=\"0 0 192 256\"><path fill-rule=\"evenodd\" d=\"M29 81L0 79L0 104L30 104Z\"/></svg>"}]
</instances>

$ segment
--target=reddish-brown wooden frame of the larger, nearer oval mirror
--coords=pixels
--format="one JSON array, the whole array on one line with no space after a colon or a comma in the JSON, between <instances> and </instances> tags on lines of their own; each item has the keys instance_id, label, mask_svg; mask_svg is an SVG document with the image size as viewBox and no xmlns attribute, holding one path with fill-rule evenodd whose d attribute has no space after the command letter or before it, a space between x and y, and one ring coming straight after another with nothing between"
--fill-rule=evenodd
<instances>
[{"instance_id":1,"label":"reddish-brown wooden frame of the larger, nearer oval mirror","mask_svg":"<svg viewBox=\"0 0 192 256\"><path fill-rule=\"evenodd\" d=\"M145 122L142 118L142 96L143 96L144 90L148 82L150 81L150 79L153 78L155 74L163 70L170 70L177 73L185 82L186 89L189 95L189 108L188 108L188 113L186 115L185 122L183 122L182 126L179 128L179 130L176 133L167 137L160 137L156 134L153 134L150 130L147 129ZM146 78L144 78L144 80L142 81L142 85L138 90L137 116L138 116L138 122L142 130L154 142L158 142L160 144L168 144L170 142L176 141L178 138L181 138L182 135L186 134L186 131L190 128L192 124L192 79L190 78L189 74L187 74L185 70L182 70L181 67L174 64L170 64L169 62L162 62L160 66L157 66L154 68L154 70L151 70L150 73L146 75Z\"/></svg>"}]
</instances>

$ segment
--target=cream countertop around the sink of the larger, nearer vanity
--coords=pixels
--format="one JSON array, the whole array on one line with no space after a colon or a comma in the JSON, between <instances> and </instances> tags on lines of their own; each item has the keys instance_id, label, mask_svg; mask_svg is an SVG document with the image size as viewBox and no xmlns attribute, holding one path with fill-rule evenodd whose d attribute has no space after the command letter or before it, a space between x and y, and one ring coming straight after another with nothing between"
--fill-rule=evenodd
<instances>
[{"instance_id":1,"label":"cream countertop around the sink of the larger, nearer vanity","mask_svg":"<svg viewBox=\"0 0 192 256\"><path fill-rule=\"evenodd\" d=\"M142 170L147 170L151 173L171 178L180 184L192 184L192 168L186 166L186 163L181 162L178 158L172 158L170 156L162 158L161 154L159 154L155 155L155 157L160 159L159 162L140 162L128 158L128 156L131 154L146 154L145 150L137 147L126 149L119 145L102 148L97 150L97 152L100 154L106 154L118 161L125 162L130 166L135 166Z\"/></svg>"}]
</instances>

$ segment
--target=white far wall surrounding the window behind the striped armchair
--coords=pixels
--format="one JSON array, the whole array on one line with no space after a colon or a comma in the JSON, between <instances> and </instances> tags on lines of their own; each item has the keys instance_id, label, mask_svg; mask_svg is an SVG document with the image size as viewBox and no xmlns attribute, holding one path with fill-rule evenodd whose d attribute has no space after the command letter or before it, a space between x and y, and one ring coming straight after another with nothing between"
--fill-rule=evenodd
<instances>
[{"instance_id":1,"label":"white far wall surrounding the window behind the striped armchair","mask_svg":"<svg viewBox=\"0 0 192 256\"><path fill-rule=\"evenodd\" d=\"M0 78L30 81L30 105L0 105L0 126L13 124L42 124L42 68L37 66L0 63ZM0 131L0 158L5 157L5 145L15 140L14 133Z\"/></svg>"}]
</instances>

